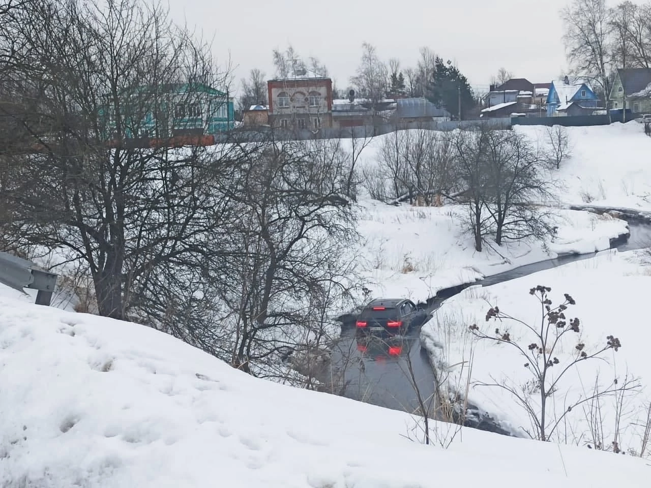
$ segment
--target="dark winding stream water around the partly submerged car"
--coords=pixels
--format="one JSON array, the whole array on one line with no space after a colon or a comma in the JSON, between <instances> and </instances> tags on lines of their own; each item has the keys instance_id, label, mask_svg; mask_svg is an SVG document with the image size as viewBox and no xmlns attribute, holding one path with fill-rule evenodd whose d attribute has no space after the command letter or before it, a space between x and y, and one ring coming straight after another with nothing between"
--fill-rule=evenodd
<instances>
[{"instance_id":1,"label":"dark winding stream water around the partly submerged car","mask_svg":"<svg viewBox=\"0 0 651 488\"><path fill-rule=\"evenodd\" d=\"M641 249L649 245L651 245L651 225L630 224L628 241L618 243L615 247L618 251L623 252ZM490 286L562 264L588 259L592 256L594 254L559 256L553 260L521 266L505 273L499 273L499 275L486 277L472 285ZM430 299L428 302L428 312L430 314L434 312L445 299L456 295L463 288L465 286L439 292L434 299ZM337 381L339 393L354 400L390 409L417 412L420 409L411 380L413 378L421 392L421 399L432 416L436 381L428 355L421 347L420 332L420 327L414 328L400 342L367 343L361 338L357 338L352 318L344 321L342 336L331 356L331 375L339 380ZM411 360L413 374L409 373L407 358ZM506 433L486 418L469 418L466 424L471 427Z\"/></svg>"}]
</instances>

